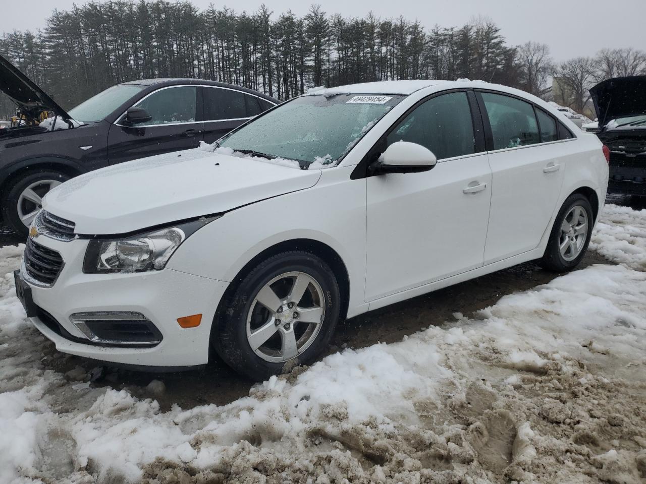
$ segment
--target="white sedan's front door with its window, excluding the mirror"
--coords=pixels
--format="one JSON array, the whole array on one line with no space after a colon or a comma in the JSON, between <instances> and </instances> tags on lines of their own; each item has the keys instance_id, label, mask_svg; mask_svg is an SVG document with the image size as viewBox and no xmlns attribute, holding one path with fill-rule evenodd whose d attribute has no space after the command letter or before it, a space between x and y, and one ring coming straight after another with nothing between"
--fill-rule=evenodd
<instances>
[{"instance_id":1,"label":"white sedan's front door with its window, excluding the mirror","mask_svg":"<svg viewBox=\"0 0 646 484\"><path fill-rule=\"evenodd\" d=\"M367 179L366 301L483 265L492 172L472 93L450 92L418 105L382 140L419 143L432 170Z\"/></svg>"}]
</instances>

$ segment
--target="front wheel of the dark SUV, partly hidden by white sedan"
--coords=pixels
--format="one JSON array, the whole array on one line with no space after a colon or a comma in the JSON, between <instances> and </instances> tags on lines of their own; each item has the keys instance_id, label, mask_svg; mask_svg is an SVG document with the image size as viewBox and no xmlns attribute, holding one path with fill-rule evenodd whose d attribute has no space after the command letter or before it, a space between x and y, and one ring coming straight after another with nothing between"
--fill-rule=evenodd
<instances>
[{"instance_id":1,"label":"front wheel of the dark SUV, partly hidden by white sedan","mask_svg":"<svg viewBox=\"0 0 646 484\"><path fill-rule=\"evenodd\" d=\"M3 187L5 193L0 200L5 223L16 230L18 234L26 237L29 227L23 223L21 218L29 216L25 220L30 223L36 216L37 210L41 208L36 198L44 197L51 188L68 179L70 177L66 174L49 168L22 172L10 179L8 184ZM30 198L25 196L25 190L28 188L31 188L33 192L30 194Z\"/></svg>"}]
</instances>

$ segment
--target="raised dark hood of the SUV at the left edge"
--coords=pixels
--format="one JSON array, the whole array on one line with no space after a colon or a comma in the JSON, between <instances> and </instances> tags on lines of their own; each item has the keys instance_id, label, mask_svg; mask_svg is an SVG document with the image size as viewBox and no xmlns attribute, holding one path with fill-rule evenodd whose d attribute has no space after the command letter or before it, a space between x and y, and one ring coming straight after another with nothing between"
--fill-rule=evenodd
<instances>
[{"instance_id":1,"label":"raised dark hood of the SUV at the left edge","mask_svg":"<svg viewBox=\"0 0 646 484\"><path fill-rule=\"evenodd\" d=\"M53 111L63 119L71 119L61 106L45 94L45 91L2 55L0 55L0 92L10 97L21 111L30 117L37 118L43 111Z\"/></svg>"}]
</instances>

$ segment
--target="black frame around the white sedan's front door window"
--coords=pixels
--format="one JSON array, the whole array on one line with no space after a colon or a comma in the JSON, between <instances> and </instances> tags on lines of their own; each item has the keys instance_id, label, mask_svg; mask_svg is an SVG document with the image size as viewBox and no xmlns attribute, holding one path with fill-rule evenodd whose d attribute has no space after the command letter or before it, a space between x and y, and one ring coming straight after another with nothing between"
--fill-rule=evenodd
<instances>
[{"instance_id":1,"label":"black frame around the white sedan's front door window","mask_svg":"<svg viewBox=\"0 0 646 484\"><path fill-rule=\"evenodd\" d=\"M483 136L478 136L477 133L485 133L486 131L483 128L483 116L481 116L481 113L476 112L475 107L477 106L477 99L475 99L474 95L474 89L473 88L453 88L453 89L446 89L438 92L433 92L432 94L429 94L426 97L422 97L419 101L417 101L415 104L410 106L404 114L402 114L400 117L398 117L393 123L391 123L390 126L388 126L388 129L384 134L382 134L379 139L375 142L374 145L371 146L370 150L366 152L366 154L362 157L362 159L357 163L357 166L355 166L355 169L352 170L352 173L350 174L350 179L351 180L356 180L360 178L368 178L370 176L375 176L376 174L370 174L368 172L368 166L372 161L374 161L373 158L376 156L379 156L381 154L381 148L380 145L386 141L386 138L388 137L393 130L395 130L395 127L399 126L399 123L404 121L406 117L408 117L409 114L411 114L415 109L417 109L419 106L422 104L426 103L426 101L430 101L434 97L439 97L443 96L444 94L452 94L454 92L464 92L466 94L466 99L469 103L469 110L471 112L471 122L472 122L472 128L474 130L474 149L475 153L470 153L470 154L465 154L465 155L459 155L459 156L453 156L450 158L443 158L441 160L438 160L437 163L444 163L445 161L452 161L455 159L463 159L463 158L469 158L469 157L474 157L474 156L481 156L482 154L486 154L486 145L485 145L485 137ZM409 95L410 96L410 95Z\"/></svg>"}]
</instances>

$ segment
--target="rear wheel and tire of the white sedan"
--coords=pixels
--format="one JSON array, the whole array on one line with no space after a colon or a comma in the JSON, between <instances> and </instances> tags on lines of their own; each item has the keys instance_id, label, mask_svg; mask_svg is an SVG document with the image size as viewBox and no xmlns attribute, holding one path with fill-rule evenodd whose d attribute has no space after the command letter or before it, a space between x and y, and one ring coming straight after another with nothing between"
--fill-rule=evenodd
<instances>
[{"instance_id":1,"label":"rear wheel and tire of the white sedan","mask_svg":"<svg viewBox=\"0 0 646 484\"><path fill-rule=\"evenodd\" d=\"M573 222L574 225L572 225ZM574 269L588 249L592 225L594 225L594 215L590 201L581 194L570 195L556 216L545 254L539 264L554 272L567 272ZM565 228L568 227L572 230L565 232ZM580 239L581 236L585 239ZM576 238L572 241L571 237ZM563 247L565 247L565 253Z\"/></svg>"}]
</instances>

